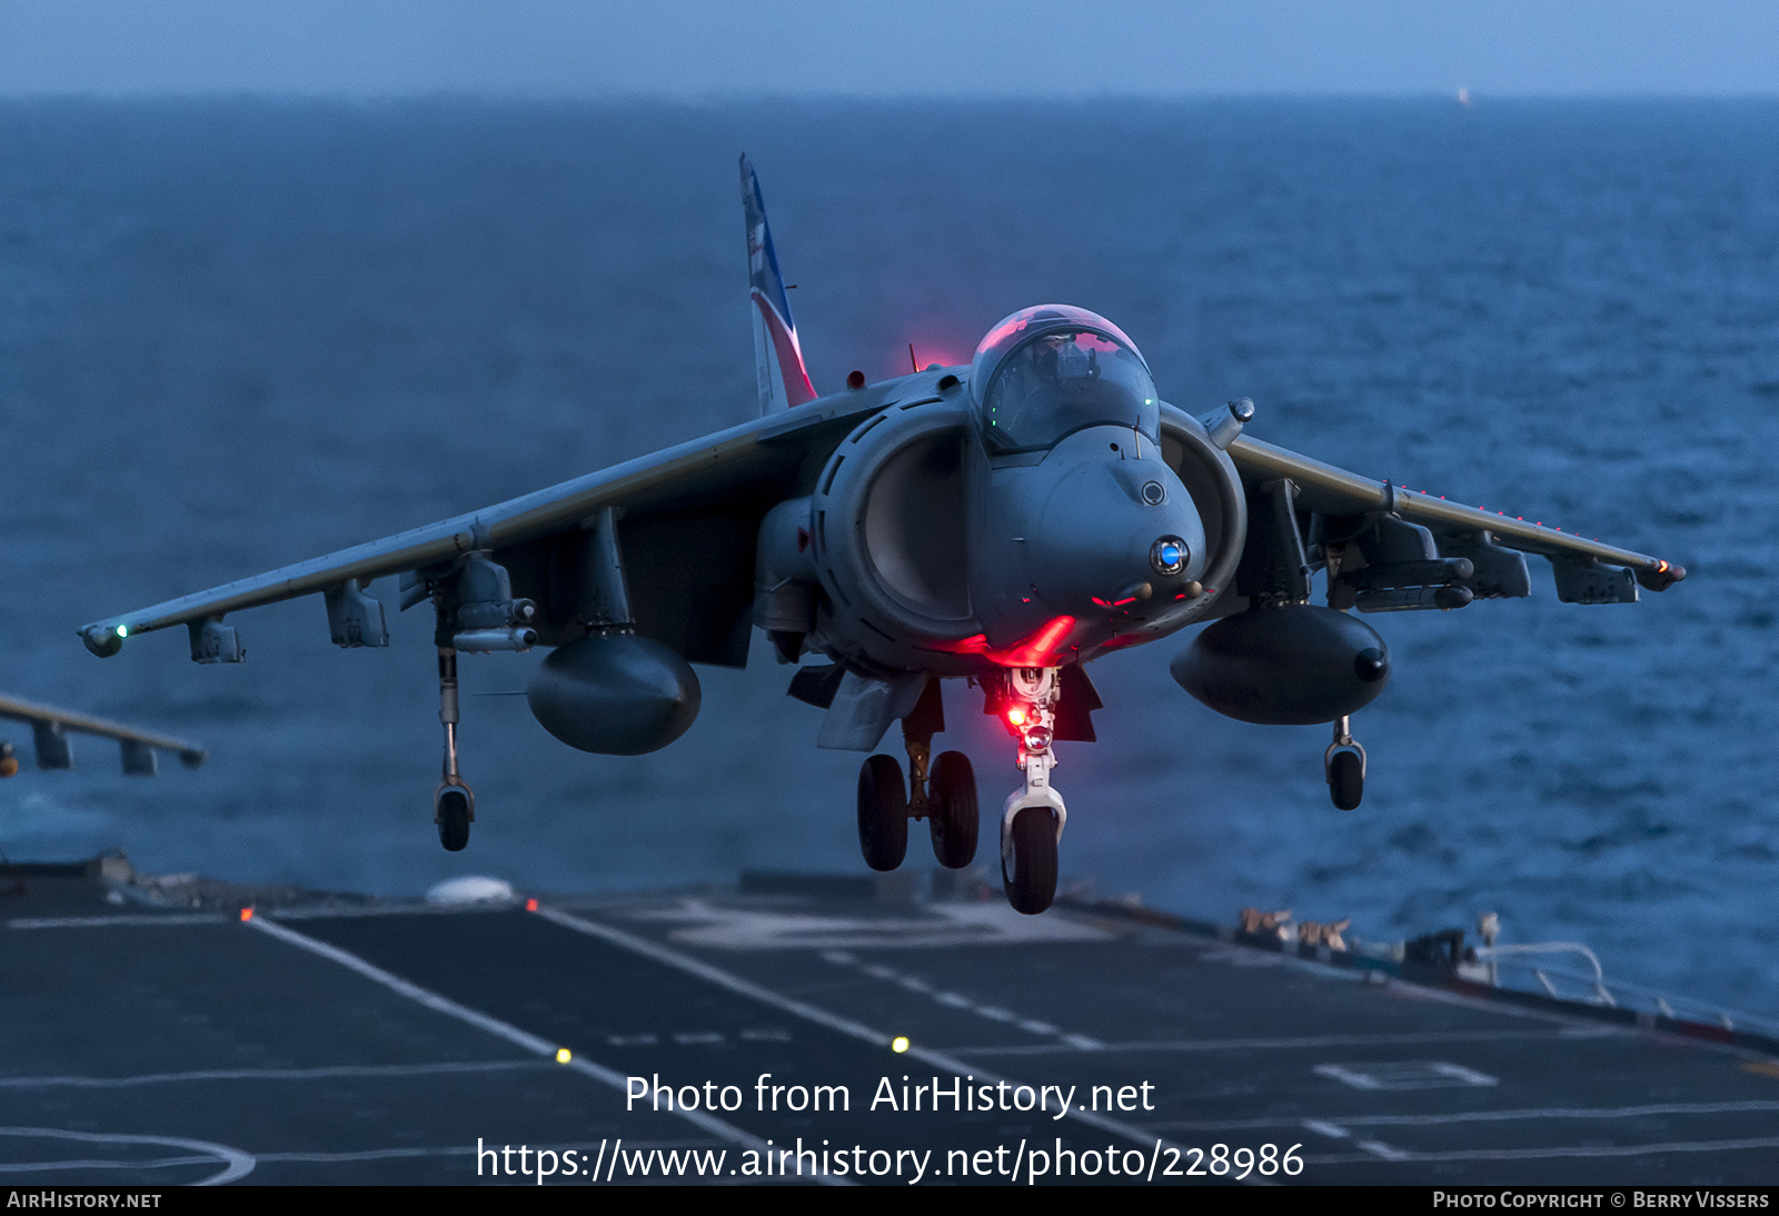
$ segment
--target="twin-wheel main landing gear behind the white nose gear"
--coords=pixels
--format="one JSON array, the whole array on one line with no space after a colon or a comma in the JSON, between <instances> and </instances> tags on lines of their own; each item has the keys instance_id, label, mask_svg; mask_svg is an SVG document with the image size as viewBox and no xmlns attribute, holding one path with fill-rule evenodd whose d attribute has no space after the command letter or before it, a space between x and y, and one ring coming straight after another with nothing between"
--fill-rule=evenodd
<instances>
[{"instance_id":1,"label":"twin-wheel main landing gear behind the white nose gear","mask_svg":"<svg viewBox=\"0 0 1779 1216\"><path fill-rule=\"evenodd\" d=\"M895 869L907 855L907 821L927 820L932 853L946 869L977 857L977 773L962 752L932 756L932 736L945 729L939 681L927 681L914 709L902 718L907 786L893 756L872 756L859 768L859 850L872 869Z\"/></svg>"}]
</instances>

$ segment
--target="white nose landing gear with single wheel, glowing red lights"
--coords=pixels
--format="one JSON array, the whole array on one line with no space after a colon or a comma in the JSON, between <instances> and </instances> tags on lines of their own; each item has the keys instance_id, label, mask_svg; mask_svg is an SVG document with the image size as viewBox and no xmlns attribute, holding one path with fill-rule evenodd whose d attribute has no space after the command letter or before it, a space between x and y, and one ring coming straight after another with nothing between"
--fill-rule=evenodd
<instances>
[{"instance_id":1,"label":"white nose landing gear with single wheel, glowing red lights","mask_svg":"<svg viewBox=\"0 0 1779 1216\"><path fill-rule=\"evenodd\" d=\"M1057 898L1057 844L1069 812L1050 784L1062 672L1055 667L1009 668L1002 713L1019 736L1025 788L1002 811L1002 885L1016 912L1037 916Z\"/></svg>"}]
</instances>

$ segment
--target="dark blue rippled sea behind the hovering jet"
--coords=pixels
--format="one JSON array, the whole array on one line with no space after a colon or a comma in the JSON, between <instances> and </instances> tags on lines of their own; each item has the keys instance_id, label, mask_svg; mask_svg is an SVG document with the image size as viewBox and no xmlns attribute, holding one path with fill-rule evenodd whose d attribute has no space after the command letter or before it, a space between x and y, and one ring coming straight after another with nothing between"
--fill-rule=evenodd
<instances>
[{"instance_id":1,"label":"dark blue rippled sea behind the hovering jet","mask_svg":"<svg viewBox=\"0 0 1779 1216\"><path fill-rule=\"evenodd\" d=\"M342 652L320 599L98 661L75 628L500 501L754 409L737 155L761 174L815 384L962 361L1005 313L1119 324L1192 412L1686 565L1635 606L1372 617L1388 693L1252 727L1092 667L1062 745L1064 884L1393 940L1498 912L1612 978L1779 1015L1779 105L322 105L0 101L0 688L210 748L0 784L0 848L420 892L859 871L859 757L813 747L756 635L646 757L530 718L537 654L468 656L479 820L438 846L427 613ZM375 594L375 590L374 590ZM961 686L986 807L1016 784ZM989 841L991 834L984 834ZM984 857L991 857L986 844ZM911 848L914 864L927 864Z\"/></svg>"}]
</instances>

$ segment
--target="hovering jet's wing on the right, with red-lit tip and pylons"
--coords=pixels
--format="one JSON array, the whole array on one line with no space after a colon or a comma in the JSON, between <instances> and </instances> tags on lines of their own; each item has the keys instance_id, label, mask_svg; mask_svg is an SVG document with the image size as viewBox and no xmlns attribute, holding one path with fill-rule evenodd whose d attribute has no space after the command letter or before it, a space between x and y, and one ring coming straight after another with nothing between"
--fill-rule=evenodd
<instances>
[{"instance_id":1,"label":"hovering jet's wing on the right, with red-lit tip and pylons","mask_svg":"<svg viewBox=\"0 0 1779 1216\"><path fill-rule=\"evenodd\" d=\"M1251 496L1288 484L1284 514L1320 516L1324 556L1332 556L1345 580L1331 599L1336 608L1354 599L1361 612L1462 606L1436 603L1441 585L1466 587L1475 597L1526 596L1521 553L1550 558L1558 599L1567 603L1635 603L1638 585L1660 592L1686 578L1685 567L1663 558L1357 476L1249 436L1229 444L1229 457ZM1357 555L1348 556L1350 549ZM1471 562L1468 576L1459 558Z\"/></svg>"}]
</instances>

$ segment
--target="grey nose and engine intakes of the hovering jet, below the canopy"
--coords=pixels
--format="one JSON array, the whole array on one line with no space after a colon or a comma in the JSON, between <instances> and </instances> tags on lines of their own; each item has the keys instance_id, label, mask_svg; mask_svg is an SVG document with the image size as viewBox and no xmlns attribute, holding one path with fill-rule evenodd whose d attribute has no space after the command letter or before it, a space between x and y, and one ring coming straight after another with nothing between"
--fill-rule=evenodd
<instances>
[{"instance_id":1,"label":"grey nose and engine intakes of the hovering jet, below the canopy","mask_svg":"<svg viewBox=\"0 0 1779 1216\"><path fill-rule=\"evenodd\" d=\"M1062 667L1215 615L1244 526L1197 420L1163 405L1160 441L1089 425L991 455L959 382L861 421L769 512L754 620L861 674ZM1165 539L1176 571L1155 562Z\"/></svg>"}]
</instances>

